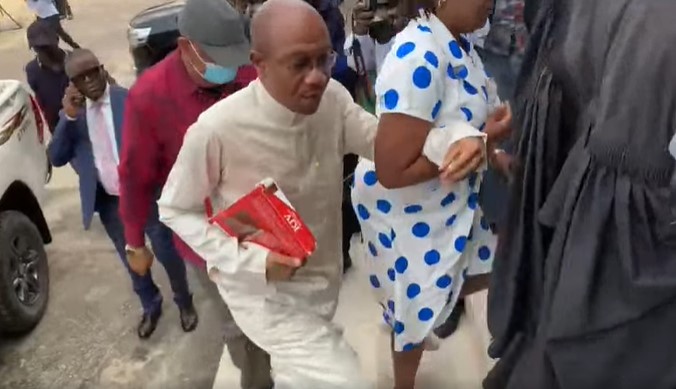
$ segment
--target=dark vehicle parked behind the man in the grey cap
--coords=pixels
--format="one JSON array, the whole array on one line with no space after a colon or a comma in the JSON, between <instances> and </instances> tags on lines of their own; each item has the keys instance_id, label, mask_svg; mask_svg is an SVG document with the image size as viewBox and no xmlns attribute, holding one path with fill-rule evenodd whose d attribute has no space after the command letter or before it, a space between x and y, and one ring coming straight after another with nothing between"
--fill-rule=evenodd
<instances>
[{"instance_id":1,"label":"dark vehicle parked behind the man in the grey cap","mask_svg":"<svg viewBox=\"0 0 676 389\"><path fill-rule=\"evenodd\" d=\"M185 2L169 1L141 11L129 22L127 38L136 74L161 61L176 48L178 14Z\"/></svg>"}]
</instances>

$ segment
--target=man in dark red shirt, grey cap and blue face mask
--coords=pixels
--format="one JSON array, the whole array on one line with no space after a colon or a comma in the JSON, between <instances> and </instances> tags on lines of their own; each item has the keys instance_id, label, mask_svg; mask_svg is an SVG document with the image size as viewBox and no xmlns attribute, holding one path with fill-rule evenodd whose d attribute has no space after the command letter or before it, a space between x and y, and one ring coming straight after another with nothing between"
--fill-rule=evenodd
<instances>
[{"instance_id":1,"label":"man in dark red shirt, grey cap and blue face mask","mask_svg":"<svg viewBox=\"0 0 676 389\"><path fill-rule=\"evenodd\" d=\"M256 78L248 64L246 30L242 16L226 1L187 1L179 17L177 50L148 69L129 91L120 155L120 215L130 265L140 271L152 261L143 232L146 220L186 130L211 105ZM204 268L187 245L177 238L174 242L184 259ZM204 287L222 304L214 284L205 282ZM226 344L242 371L242 388L271 388L269 356L246 338L224 308Z\"/></svg>"}]
</instances>

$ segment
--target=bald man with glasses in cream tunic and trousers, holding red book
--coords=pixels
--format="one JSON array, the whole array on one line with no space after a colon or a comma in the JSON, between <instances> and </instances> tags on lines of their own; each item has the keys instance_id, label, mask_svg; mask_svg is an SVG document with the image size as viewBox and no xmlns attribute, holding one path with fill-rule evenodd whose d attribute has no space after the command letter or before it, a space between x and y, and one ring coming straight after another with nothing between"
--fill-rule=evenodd
<instances>
[{"instance_id":1,"label":"bald man with glasses in cream tunic and trousers, holding red book","mask_svg":"<svg viewBox=\"0 0 676 389\"><path fill-rule=\"evenodd\" d=\"M188 129L159 200L161 220L206 260L237 324L270 354L275 388L366 388L331 320L342 274L342 158L373 158L377 120L330 79L335 53L308 4L268 0L252 40L259 79ZM302 267L207 220L205 199L227 208L268 177L317 238Z\"/></svg>"}]
</instances>

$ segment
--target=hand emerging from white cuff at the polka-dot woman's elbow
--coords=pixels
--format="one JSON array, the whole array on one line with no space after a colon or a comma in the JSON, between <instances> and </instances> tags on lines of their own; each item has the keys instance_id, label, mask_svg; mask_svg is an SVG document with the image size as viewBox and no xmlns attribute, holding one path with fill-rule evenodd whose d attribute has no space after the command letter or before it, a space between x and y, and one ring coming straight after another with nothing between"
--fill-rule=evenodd
<instances>
[{"instance_id":1,"label":"hand emerging from white cuff at the polka-dot woman's elbow","mask_svg":"<svg viewBox=\"0 0 676 389\"><path fill-rule=\"evenodd\" d=\"M481 166L486 158L484 140L479 137L463 138L453 143L439 166L439 178L444 182L458 182Z\"/></svg>"}]
</instances>

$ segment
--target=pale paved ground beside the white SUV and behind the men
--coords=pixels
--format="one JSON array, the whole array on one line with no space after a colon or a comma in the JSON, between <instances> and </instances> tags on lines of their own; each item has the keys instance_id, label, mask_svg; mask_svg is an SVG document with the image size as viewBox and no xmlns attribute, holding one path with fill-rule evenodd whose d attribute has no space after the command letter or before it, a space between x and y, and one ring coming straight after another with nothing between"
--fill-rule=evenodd
<instances>
[{"instance_id":1,"label":"pale paved ground beside the white SUV and behind the men","mask_svg":"<svg viewBox=\"0 0 676 389\"><path fill-rule=\"evenodd\" d=\"M23 0L20 0L23 3ZM161 0L71 0L75 19L66 29L91 48L123 85L133 82L126 28L138 11ZM12 3L2 2L11 9ZM27 15L17 13L22 20ZM6 20L0 27L7 26ZM0 32L0 77L24 79L32 55L25 30ZM212 387L222 353L217 310L194 273L190 281L201 314L196 332L184 334L164 271L155 278L165 313L148 342L135 326L139 304L101 225L83 231L77 179L58 169L45 212L54 242L48 246L51 301L40 326L20 340L0 340L0 388L196 388Z\"/></svg>"}]
</instances>

